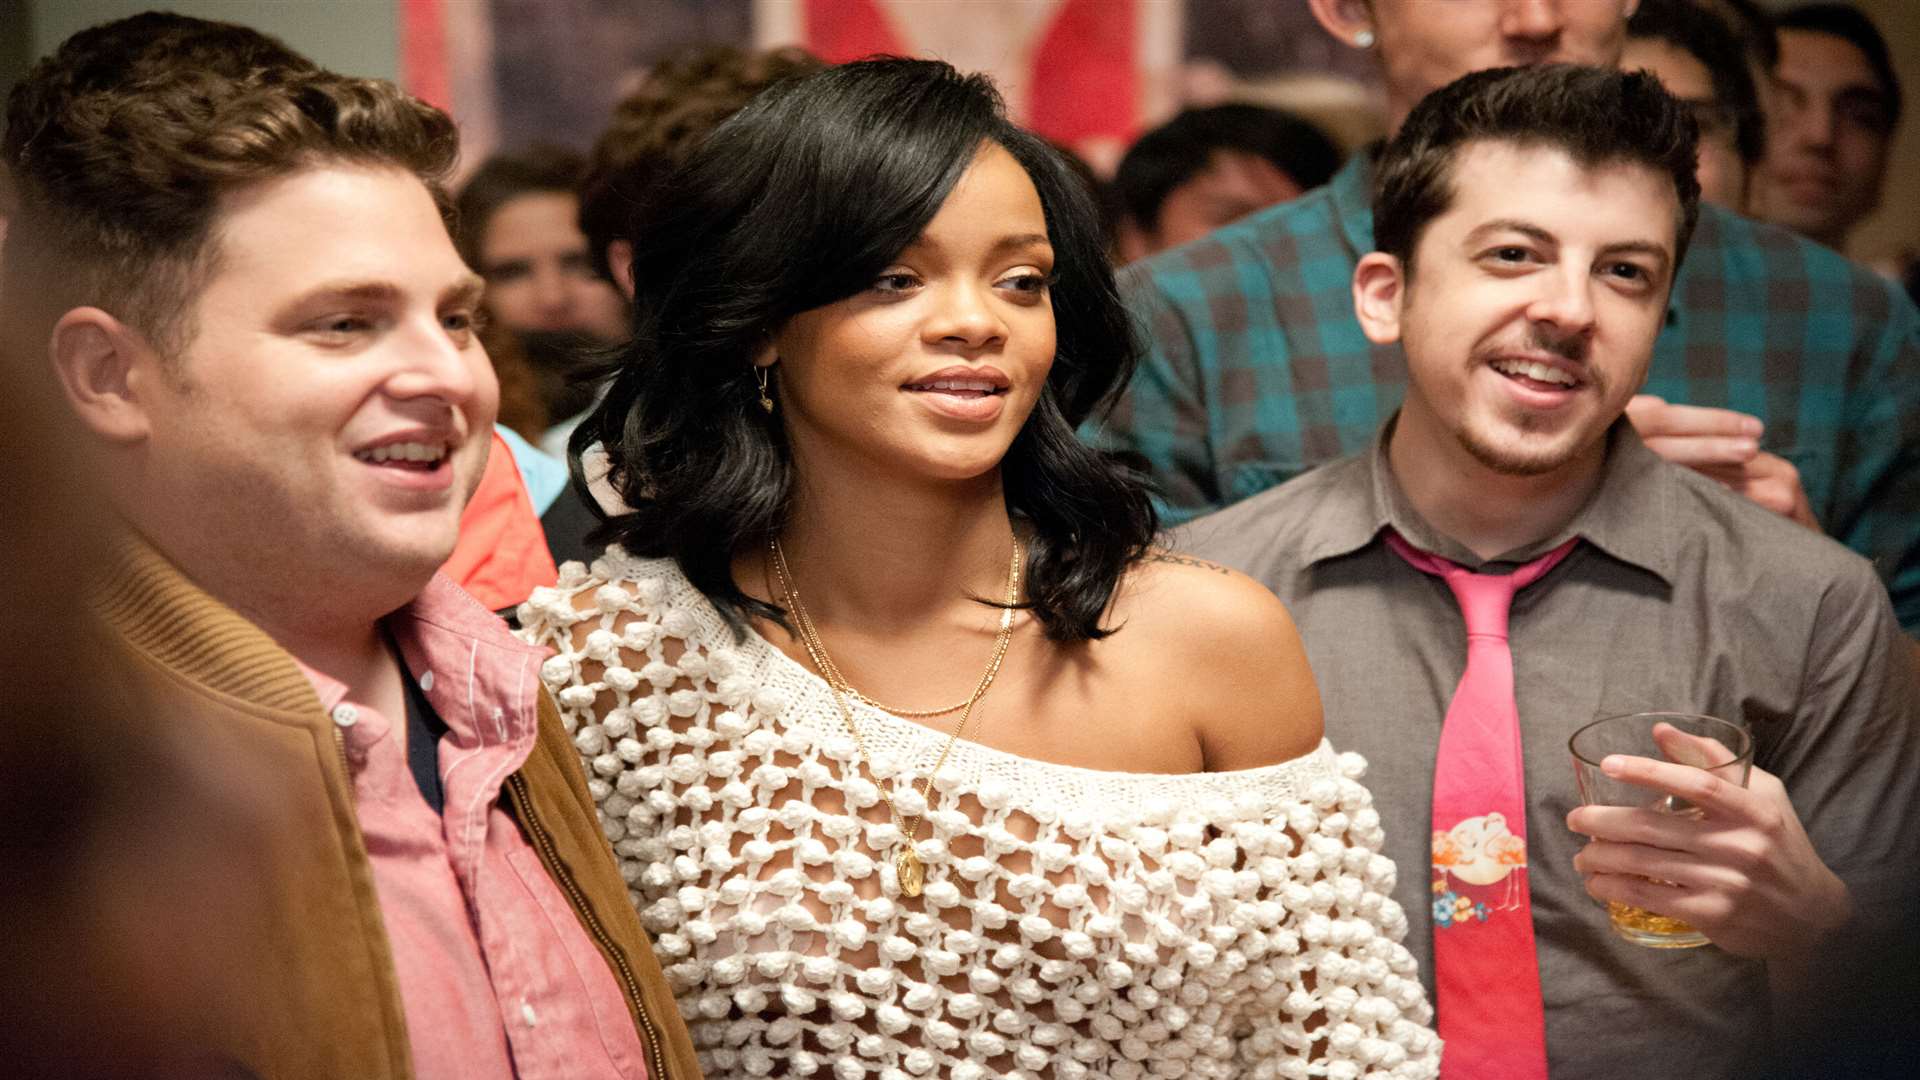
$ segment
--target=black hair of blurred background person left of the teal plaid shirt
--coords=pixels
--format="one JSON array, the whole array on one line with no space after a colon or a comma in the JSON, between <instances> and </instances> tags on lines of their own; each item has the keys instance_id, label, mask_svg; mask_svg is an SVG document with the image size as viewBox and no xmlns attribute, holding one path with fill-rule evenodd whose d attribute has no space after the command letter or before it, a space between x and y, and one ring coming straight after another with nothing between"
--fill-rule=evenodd
<instances>
[{"instance_id":1,"label":"black hair of blurred background person left of the teal plaid shirt","mask_svg":"<svg viewBox=\"0 0 1920 1080\"><path fill-rule=\"evenodd\" d=\"M1160 204L1200 175L1217 150L1263 158L1300 190L1325 184L1340 169L1332 138L1294 113L1246 104L1187 110L1142 135L1119 160L1114 186L1127 217L1154 231Z\"/></svg>"}]
</instances>

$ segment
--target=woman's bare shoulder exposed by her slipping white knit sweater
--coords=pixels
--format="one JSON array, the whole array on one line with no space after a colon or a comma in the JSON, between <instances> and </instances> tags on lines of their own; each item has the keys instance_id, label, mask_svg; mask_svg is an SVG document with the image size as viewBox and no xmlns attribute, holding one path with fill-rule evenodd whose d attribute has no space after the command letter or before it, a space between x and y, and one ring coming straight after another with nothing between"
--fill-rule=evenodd
<instances>
[{"instance_id":1,"label":"woman's bare shoulder exposed by her slipping white knit sweater","mask_svg":"<svg viewBox=\"0 0 1920 1080\"><path fill-rule=\"evenodd\" d=\"M1254 769L1309 753L1321 703L1292 615L1258 580L1206 559L1154 548L1121 580L1117 638L1140 663L1177 673L1179 711L1208 767Z\"/></svg>"}]
</instances>

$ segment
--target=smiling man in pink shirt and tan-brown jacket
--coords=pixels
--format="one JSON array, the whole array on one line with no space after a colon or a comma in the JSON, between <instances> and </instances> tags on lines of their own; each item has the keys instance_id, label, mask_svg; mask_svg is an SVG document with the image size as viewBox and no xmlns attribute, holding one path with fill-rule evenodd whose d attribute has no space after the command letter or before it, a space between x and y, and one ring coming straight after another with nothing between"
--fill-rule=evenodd
<instances>
[{"instance_id":1,"label":"smiling man in pink shirt and tan-brown jacket","mask_svg":"<svg viewBox=\"0 0 1920 1080\"><path fill-rule=\"evenodd\" d=\"M543 653L434 575L486 465L457 135L392 85L177 15L27 77L6 325L50 357L127 538L113 655L188 759L276 809L257 978L207 1055L259 1076L697 1076Z\"/></svg>"}]
</instances>

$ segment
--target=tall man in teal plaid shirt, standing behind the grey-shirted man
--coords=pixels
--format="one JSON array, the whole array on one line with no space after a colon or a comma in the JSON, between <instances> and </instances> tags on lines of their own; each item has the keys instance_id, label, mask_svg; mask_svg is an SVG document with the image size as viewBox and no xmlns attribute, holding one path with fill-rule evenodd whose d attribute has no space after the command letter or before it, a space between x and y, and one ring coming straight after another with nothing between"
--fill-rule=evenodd
<instances>
[{"instance_id":1,"label":"tall man in teal plaid shirt, standing behind the grey-shirted man","mask_svg":"<svg viewBox=\"0 0 1920 1080\"><path fill-rule=\"evenodd\" d=\"M1309 0L1379 52L1388 121L1467 71L1615 65L1634 0ZM1144 457L1169 523L1365 450L1405 361L1354 321L1371 156L1327 186L1135 263L1146 356L1104 446ZM1874 561L1920 634L1920 313L1828 248L1703 206L1644 398L1647 446ZM1672 404L1668 404L1672 402ZM1684 404L1682 404L1684 402Z\"/></svg>"}]
</instances>

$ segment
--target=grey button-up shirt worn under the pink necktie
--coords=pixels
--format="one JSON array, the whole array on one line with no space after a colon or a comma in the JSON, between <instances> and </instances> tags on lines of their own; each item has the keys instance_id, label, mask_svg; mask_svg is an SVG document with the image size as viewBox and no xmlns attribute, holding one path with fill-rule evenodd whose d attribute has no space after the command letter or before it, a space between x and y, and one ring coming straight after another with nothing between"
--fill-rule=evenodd
<instances>
[{"instance_id":1,"label":"grey button-up shirt worn under the pink necktie","mask_svg":"<svg viewBox=\"0 0 1920 1080\"><path fill-rule=\"evenodd\" d=\"M1653 455L1620 421L1586 507L1498 559L1440 536L1369 452L1185 527L1175 546L1246 571L1286 601L1327 736L1367 757L1400 867L1407 947L1432 988L1432 771L1467 657L1440 578L1380 540L1505 573L1582 542L1515 596L1509 623L1526 767L1526 851L1555 1080L1734 1078L1764 1045L1766 970L1716 947L1657 951L1607 928L1572 857L1567 738L1596 717L1743 719L1814 849L1862 917L1912 903L1920 867L1920 678L1866 559ZM1912 934L1914 928L1901 926Z\"/></svg>"}]
</instances>

